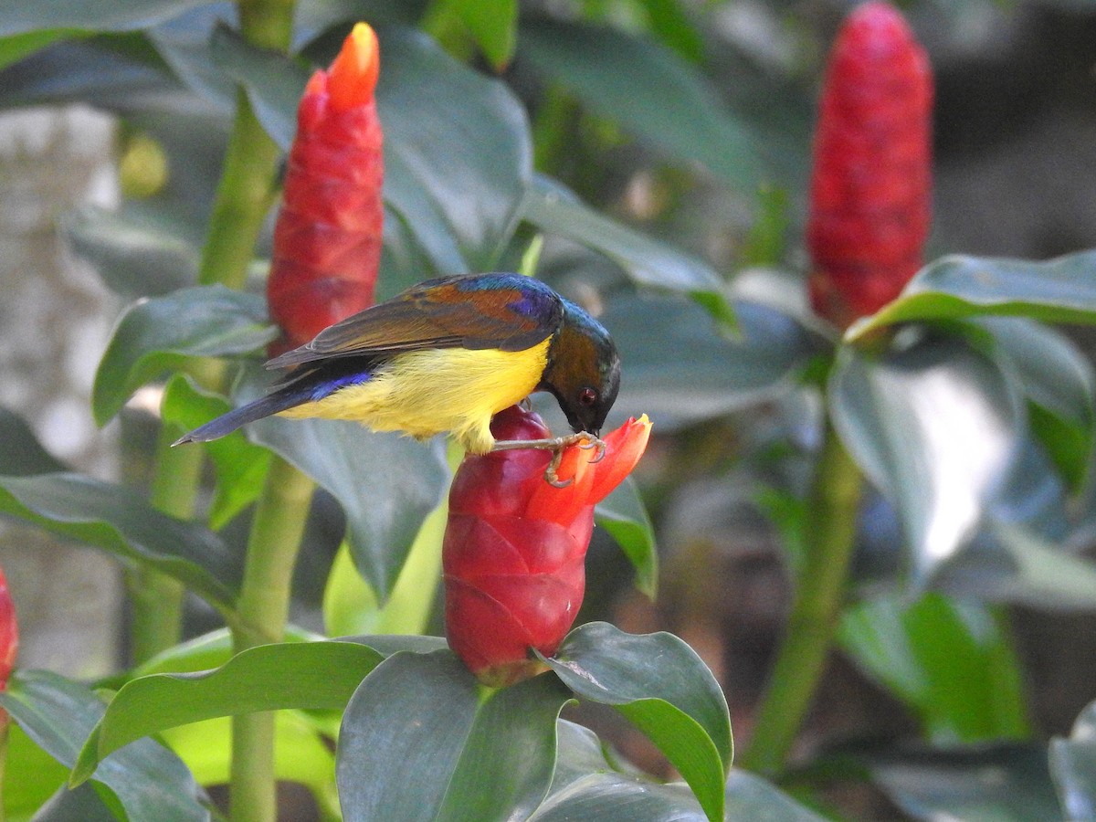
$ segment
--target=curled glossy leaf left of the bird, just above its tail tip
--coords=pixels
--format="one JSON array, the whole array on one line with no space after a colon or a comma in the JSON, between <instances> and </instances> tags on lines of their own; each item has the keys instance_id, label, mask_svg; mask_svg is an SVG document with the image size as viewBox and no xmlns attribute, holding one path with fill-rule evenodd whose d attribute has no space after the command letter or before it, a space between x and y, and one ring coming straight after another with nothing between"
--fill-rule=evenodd
<instances>
[{"instance_id":1,"label":"curled glossy leaf left of the bird, just above its tail tip","mask_svg":"<svg viewBox=\"0 0 1096 822\"><path fill-rule=\"evenodd\" d=\"M222 285L198 286L138 300L114 329L95 374L95 421L110 421L146 383L187 357L246 354L277 335L262 297Z\"/></svg>"}]
</instances>

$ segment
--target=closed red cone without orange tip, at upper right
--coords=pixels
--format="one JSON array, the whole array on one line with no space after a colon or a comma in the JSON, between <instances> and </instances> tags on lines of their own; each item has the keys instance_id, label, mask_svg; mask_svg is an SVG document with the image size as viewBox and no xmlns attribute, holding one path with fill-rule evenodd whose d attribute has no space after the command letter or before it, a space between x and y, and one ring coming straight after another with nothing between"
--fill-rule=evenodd
<instances>
[{"instance_id":1,"label":"closed red cone without orange tip, at upper right","mask_svg":"<svg viewBox=\"0 0 1096 822\"><path fill-rule=\"evenodd\" d=\"M842 328L922 265L932 109L928 59L902 15L883 2L849 14L822 90L807 227L811 302Z\"/></svg>"}]
</instances>

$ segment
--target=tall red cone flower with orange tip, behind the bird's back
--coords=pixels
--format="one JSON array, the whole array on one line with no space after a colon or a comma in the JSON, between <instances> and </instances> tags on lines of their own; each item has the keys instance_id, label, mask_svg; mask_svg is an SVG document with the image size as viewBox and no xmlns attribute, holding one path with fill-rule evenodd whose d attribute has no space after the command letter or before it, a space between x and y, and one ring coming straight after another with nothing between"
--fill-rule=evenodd
<instances>
[{"instance_id":1,"label":"tall red cone flower with orange tip, behind the bird's back","mask_svg":"<svg viewBox=\"0 0 1096 822\"><path fill-rule=\"evenodd\" d=\"M297 111L266 299L275 356L374 302L384 208L377 35L358 23Z\"/></svg>"}]
</instances>

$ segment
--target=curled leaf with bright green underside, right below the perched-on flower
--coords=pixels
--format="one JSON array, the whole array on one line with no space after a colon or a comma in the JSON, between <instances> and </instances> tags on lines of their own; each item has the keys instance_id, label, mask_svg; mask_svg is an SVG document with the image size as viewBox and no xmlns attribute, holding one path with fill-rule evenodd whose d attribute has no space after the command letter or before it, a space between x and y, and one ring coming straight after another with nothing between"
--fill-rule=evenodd
<instances>
[{"instance_id":1,"label":"curled leaf with bright green underside, right below the perched-on flower","mask_svg":"<svg viewBox=\"0 0 1096 822\"><path fill-rule=\"evenodd\" d=\"M730 717L723 692L692 648L672 633L635 636L591 623L545 662L576 696L627 717L677 768L708 818L723 818Z\"/></svg>"}]
</instances>

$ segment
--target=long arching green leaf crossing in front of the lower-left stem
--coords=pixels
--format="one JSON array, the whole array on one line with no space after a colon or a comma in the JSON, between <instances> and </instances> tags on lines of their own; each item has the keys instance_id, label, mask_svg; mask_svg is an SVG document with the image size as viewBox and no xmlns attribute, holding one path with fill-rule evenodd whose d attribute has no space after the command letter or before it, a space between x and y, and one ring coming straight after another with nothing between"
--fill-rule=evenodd
<instances>
[{"instance_id":1,"label":"long arching green leaf crossing in front of the lower-left stem","mask_svg":"<svg viewBox=\"0 0 1096 822\"><path fill-rule=\"evenodd\" d=\"M248 649L212 672L133 680L89 735L72 783L110 753L167 728L279 708L342 708L380 659L356 642L287 642Z\"/></svg>"}]
</instances>

